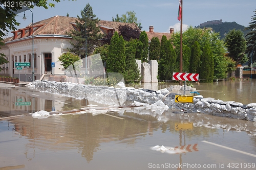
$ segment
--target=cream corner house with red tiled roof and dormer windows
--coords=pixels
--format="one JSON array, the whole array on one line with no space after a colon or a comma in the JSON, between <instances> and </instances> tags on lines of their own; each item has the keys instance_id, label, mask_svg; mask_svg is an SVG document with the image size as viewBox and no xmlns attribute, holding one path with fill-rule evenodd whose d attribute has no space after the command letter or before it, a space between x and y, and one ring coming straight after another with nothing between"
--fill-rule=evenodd
<instances>
[{"instance_id":1,"label":"cream corner house with red tiled roof and dormer windows","mask_svg":"<svg viewBox=\"0 0 256 170\"><path fill-rule=\"evenodd\" d=\"M34 76L35 80L51 71L54 75L65 75L65 69L58 62L58 57L62 53L68 52L72 48L70 41L72 38L66 33L76 29L75 17L54 16L41 20L13 31L13 36L5 39L5 46L1 46L0 53L6 55L9 61L1 65L4 68L0 75L19 77L20 81L32 81L32 54L34 53ZM117 31L119 25L131 25L134 23L123 23L113 21L99 21L98 27L102 33L108 34ZM34 52L32 52L32 48ZM15 63L29 62L30 66L17 69ZM52 67L54 63L54 67Z\"/></svg>"}]
</instances>

